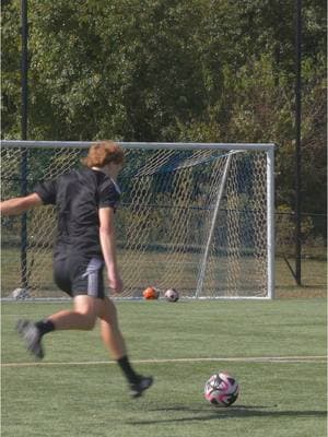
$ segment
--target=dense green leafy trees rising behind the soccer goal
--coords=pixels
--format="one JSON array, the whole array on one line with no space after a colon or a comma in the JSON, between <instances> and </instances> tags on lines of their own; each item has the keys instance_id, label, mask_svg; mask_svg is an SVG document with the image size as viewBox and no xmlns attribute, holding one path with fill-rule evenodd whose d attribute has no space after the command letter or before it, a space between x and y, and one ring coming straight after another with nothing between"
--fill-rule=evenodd
<instances>
[{"instance_id":1,"label":"dense green leafy trees rising behind the soccer goal","mask_svg":"<svg viewBox=\"0 0 328 437\"><path fill-rule=\"evenodd\" d=\"M317 214L326 12L303 0L302 198ZM20 15L2 2L7 139L21 137ZM274 142L276 204L293 211L295 16L295 0L28 0L28 138Z\"/></svg>"}]
</instances>

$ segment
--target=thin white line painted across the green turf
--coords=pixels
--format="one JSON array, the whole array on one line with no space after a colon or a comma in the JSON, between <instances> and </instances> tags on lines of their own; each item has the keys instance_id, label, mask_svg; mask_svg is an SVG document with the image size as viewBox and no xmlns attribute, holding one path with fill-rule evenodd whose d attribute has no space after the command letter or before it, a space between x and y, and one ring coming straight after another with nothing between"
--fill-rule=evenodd
<instances>
[{"instance_id":1,"label":"thin white line painted across the green turf","mask_svg":"<svg viewBox=\"0 0 328 437\"><path fill-rule=\"evenodd\" d=\"M208 357L208 358L153 358L133 359L133 364L165 364L165 363L327 363L326 355L302 355L302 356L234 356L234 357ZM30 367L30 366L93 366L116 364L115 361L107 362L34 362L34 363L2 363L1 367Z\"/></svg>"}]
</instances>

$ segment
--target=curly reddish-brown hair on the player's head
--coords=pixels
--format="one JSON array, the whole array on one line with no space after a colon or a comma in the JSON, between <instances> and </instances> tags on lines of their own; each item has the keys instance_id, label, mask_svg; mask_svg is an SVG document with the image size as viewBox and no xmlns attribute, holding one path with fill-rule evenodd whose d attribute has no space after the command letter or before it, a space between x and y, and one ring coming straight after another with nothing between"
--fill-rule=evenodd
<instances>
[{"instance_id":1,"label":"curly reddish-brown hair on the player's head","mask_svg":"<svg viewBox=\"0 0 328 437\"><path fill-rule=\"evenodd\" d=\"M104 167L109 163L124 164L125 152L122 147L109 140L104 140L91 145L87 156L82 160L86 167Z\"/></svg>"}]
</instances>

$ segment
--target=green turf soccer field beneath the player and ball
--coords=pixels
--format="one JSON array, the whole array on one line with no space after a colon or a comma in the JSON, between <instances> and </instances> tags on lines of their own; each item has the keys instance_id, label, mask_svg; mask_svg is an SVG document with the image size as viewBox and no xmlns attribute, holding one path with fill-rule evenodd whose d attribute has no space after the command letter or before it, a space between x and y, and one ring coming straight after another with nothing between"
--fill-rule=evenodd
<instances>
[{"instance_id":1,"label":"green turf soccer field beneath the player and ball","mask_svg":"<svg viewBox=\"0 0 328 437\"><path fill-rule=\"evenodd\" d=\"M118 302L131 359L155 377L130 400L98 328L45 338L36 364L14 332L70 304L2 304L3 437L326 436L326 300ZM227 370L230 408L202 397Z\"/></svg>"}]
</instances>

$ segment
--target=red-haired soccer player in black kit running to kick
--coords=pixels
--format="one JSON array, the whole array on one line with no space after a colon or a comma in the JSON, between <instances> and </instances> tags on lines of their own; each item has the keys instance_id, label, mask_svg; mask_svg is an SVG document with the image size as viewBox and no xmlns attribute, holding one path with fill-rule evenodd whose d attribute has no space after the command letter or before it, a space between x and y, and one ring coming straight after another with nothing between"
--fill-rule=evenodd
<instances>
[{"instance_id":1,"label":"red-haired soccer player in black kit running to kick","mask_svg":"<svg viewBox=\"0 0 328 437\"><path fill-rule=\"evenodd\" d=\"M109 288L122 291L114 213L120 197L116 178L124 165L124 151L112 141L94 143L82 162L84 167L38 184L28 196L0 203L3 215L56 205L54 276L59 288L73 298L73 310L61 310L37 322L20 320L16 328L27 349L43 358L45 334L54 330L92 330L98 318L103 341L126 376L131 395L137 398L151 387L153 378L138 375L132 368L115 305L105 295L103 283L106 267Z\"/></svg>"}]
</instances>

